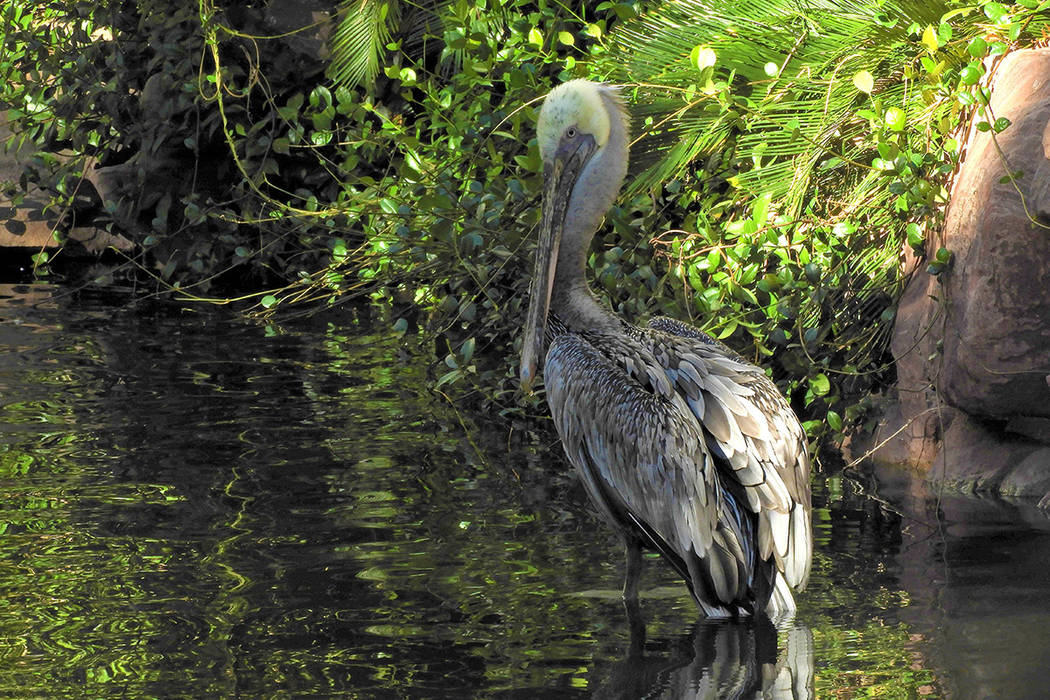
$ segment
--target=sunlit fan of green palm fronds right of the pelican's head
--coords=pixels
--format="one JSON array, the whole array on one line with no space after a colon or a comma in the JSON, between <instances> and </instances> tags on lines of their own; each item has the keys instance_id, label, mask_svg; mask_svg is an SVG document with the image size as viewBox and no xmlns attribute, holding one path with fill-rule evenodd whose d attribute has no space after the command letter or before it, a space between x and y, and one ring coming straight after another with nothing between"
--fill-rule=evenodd
<instances>
[{"instance_id":1,"label":"sunlit fan of green palm fronds right of the pelican's head","mask_svg":"<svg viewBox=\"0 0 1050 700\"><path fill-rule=\"evenodd\" d=\"M668 170L685 167L736 134L737 149L749 155L760 147L766 158L801 155L813 163L826 156L832 146L845 143L843 129L857 127L855 112L865 96L850 78L861 69L905 64L915 43L908 23L936 22L948 8L940 0L907 4L905 13L874 1L670 0L625 24L613 35L610 56L627 58L609 66L611 72L623 82L647 86L642 91L654 115L680 112L653 134L657 141L690 144L675 149L673 158L663 158L659 169L636 185L656 184ZM713 104L712 97L694 91L688 93L689 104L678 97L681 91L675 88L697 82L688 60L697 44L713 48L718 69L733 80L731 107L737 120L727 119L727 110ZM769 64L778 68L775 77L766 75ZM887 99L902 98L905 85L895 82L884 91ZM849 154L858 153L844 153ZM739 186L780 196L790 186L781 175L756 168L740 175Z\"/></svg>"}]
</instances>

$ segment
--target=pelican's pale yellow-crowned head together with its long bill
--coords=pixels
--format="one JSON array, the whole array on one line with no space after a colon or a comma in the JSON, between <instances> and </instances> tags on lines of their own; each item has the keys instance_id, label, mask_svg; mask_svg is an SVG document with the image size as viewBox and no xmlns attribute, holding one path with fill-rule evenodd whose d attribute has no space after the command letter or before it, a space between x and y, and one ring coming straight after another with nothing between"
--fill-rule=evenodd
<instances>
[{"instance_id":1,"label":"pelican's pale yellow-crowned head together with its long bill","mask_svg":"<svg viewBox=\"0 0 1050 700\"><path fill-rule=\"evenodd\" d=\"M588 80L571 80L559 85L550 91L540 109L536 135L543 158L545 183L532 294L522 344L521 383L526 391L536 381L537 364L543 353L554 268L569 201L581 173L608 144L610 133L617 126L613 120L621 120L621 132L626 134L626 119L616 88ZM623 168L626 170L626 155ZM618 173L620 181L623 175L623 172ZM617 181L613 193L618 187ZM608 206L608 203L603 206ZM604 211L598 213L597 220L601 220L602 213Z\"/></svg>"}]
</instances>

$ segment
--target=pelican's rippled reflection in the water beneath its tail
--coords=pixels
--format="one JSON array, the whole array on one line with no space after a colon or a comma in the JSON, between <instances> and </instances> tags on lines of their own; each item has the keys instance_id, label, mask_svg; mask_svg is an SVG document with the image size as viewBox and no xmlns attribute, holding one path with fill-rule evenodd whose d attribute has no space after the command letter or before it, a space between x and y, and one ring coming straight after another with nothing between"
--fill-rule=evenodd
<instances>
[{"instance_id":1,"label":"pelican's rippled reflection in the water beneath its tail","mask_svg":"<svg viewBox=\"0 0 1050 700\"><path fill-rule=\"evenodd\" d=\"M601 669L596 674L604 676ZM665 656L647 656L632 646L627 657L601 678L592 697L813 698L813 633L796 621L774 627L765 616L702 619L690 634L673 641Z\"/></svg>"}]
</instances>

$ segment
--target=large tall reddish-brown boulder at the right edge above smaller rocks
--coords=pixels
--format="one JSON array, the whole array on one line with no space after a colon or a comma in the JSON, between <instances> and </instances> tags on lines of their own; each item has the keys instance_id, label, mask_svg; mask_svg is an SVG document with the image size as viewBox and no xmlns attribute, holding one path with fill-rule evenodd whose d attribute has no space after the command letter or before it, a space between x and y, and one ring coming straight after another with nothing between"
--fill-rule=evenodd
<instances>
[{"instance_id":1,"label":"large tall reddish-brown boulder at the right edge above smaller rocks","mask_svg":"<svg viewBox=\"0 0 1050 700\"><path fill-rule=\"evenodd\" d=\"M916 396L906 415L936 386L971 416L1050 417L1050 49L1007 56L991 107L1011 125L994 140L971 133L942 241L929 243L952 251L952 269L917 274L898 312L899 387ZM929 361L938 341L943 356Z\"/></svg>"}]
</instances>

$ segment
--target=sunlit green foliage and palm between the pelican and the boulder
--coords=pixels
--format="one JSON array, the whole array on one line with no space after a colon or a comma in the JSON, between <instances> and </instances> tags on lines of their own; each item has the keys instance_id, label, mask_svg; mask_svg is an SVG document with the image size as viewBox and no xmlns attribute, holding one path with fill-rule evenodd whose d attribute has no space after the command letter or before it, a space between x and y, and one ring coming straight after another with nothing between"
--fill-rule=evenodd
<instances>
[{"instance_id":1,"label":"sunlit green foliage and palm between the pelican and the boulder","mask_svg":"<svg viewBox=\"0 0 1050 700\"><path fill-rule=\"evenodd\" d=\"M598 57L635 86L629 193L671 205L649 231L681 306L769 356L812 433L888 379L901 247L925 254L969 120L998 128L983 61L1038 37L1047 4L669 0Z\"/></svg>"}]
</instances>

